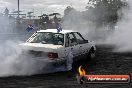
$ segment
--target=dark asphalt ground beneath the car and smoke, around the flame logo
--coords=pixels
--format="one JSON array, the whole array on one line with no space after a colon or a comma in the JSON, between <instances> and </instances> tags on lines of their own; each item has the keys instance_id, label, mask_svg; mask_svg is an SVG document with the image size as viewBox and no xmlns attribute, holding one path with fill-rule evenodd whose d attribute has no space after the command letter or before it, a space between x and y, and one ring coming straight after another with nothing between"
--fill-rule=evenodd
<instances>
[{"instance_id":1,"label":"dark asphalt ground beneath the car and smoke, around the flame logo","mask_svg":"<svg viewBox=\"0 0 132 88\"><path fill-rule=\"evenodd\" d=\"M96 58L92 62L78 61L71 71L32 76L1 77L0 88L132 88L129 84L85 84L77 83L78 67L87 74L130 74L132 75L132 53L112 52L111 45L98 45Z\"/></svg>"}]
</instances>

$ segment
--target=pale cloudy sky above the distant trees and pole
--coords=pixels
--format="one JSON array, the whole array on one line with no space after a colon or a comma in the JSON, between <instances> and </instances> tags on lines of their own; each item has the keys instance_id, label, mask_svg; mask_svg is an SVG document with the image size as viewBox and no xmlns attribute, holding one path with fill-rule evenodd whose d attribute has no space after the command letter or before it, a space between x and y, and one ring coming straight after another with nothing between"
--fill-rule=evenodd
<instances>
[{"instance_id":1,"label":"pale cloudy sky above the distant trees and pole","mask_svg":"<svg viewBox=\"0 0 132 88\"><path fill-rule=\"evenodd\" d=\"M20 0L20 9L24 12L35 11L35 14L59 12L72 5L77 10L84 10L89 0ZM0 0L0 11L5 8L17 9L17 0Z\"/></svg>"}]
</instances>

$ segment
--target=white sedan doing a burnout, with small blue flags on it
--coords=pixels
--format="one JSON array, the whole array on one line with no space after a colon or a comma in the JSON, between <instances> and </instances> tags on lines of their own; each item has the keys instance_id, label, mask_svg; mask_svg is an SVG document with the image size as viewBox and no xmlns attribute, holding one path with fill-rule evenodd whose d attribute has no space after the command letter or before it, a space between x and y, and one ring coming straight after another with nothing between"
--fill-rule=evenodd
<instances>
[{"instance_id":1,"label":"white sedan doing a burnout, with small blue flags on it","mask_svg":"<svg viewBox=\"0 0 132 88\"><path fill-rule=\"evenodd\" d=\"M56 29L40 30L20 45L36 60L46 61L53 67L64 65L67 70L72 69L74 61L93 58L96 50L94 42L72 30L59 33Z\"/></svg>"}]
</instances>

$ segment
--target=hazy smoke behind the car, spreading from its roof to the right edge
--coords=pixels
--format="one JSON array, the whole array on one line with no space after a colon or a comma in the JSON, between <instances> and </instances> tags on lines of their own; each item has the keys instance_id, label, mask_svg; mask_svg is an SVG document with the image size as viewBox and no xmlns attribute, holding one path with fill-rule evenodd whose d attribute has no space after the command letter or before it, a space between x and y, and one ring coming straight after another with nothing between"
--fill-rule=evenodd
<instances>
[{"instance_id":1,"label":"hazy smoke behind the car, spreading from its roof to the right edge","mask_svg":"<svg viewBox=\"0 0 132 88\"><path fill-rule=\"evenodd\" d=\"M115 24L98 25L99 21L95 23L95 19L100 19L103 15L101 11L108 15L105 5L102 5L99 11L95 11L96 15L91 10L79 12L71 8L69 14L64 17L63 26L66 29L79 31L85 39L94 40L96 44L112 44L115 46L113 51L130 52L132 51L132 1L124 1L128 6L122 6L118 10L118 21Z\"/></svg>"}]
</instances>

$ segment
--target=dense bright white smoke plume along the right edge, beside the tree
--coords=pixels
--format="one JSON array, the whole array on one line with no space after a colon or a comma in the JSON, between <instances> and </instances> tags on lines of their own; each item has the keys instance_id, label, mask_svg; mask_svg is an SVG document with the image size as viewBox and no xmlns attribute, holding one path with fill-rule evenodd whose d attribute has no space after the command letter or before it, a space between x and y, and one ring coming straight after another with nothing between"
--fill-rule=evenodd
<instances>
[{"instance_id":1,"label":"dense bright white smoke plume along the right edge, beside the tree","mask_svg":"<svg viewBox=\"0 0 132 88\"><path fill-rule=\"evenodd\" d=\"M117 30L108 38L107 43L116 45L115 51L132 51L132 1L128 1L129 8L123 8L123 17L117 23ZM120 14L119 14L120 15Z\"/></svg>"}]
</instances>

